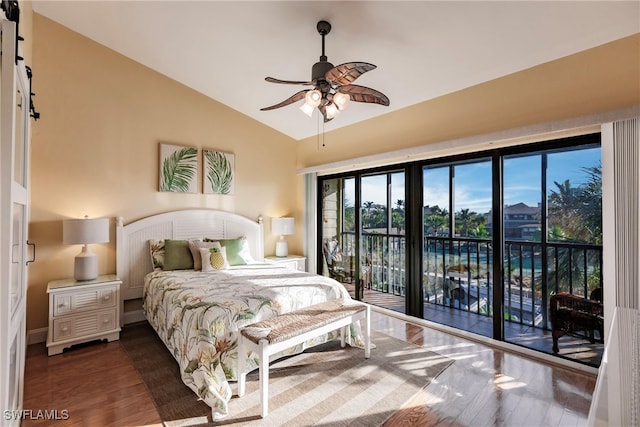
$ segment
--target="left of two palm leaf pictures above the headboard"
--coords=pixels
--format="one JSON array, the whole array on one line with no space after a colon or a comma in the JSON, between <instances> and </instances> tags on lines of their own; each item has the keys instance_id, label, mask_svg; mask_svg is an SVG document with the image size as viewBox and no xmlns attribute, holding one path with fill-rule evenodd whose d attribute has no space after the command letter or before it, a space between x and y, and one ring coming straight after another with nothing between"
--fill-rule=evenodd
<instances>
[{"instance_id":1,"label":"left of two palm leaf pictures above the headboard","mask_svg":"<svg viewBox=\"0 0 640 427\"><path fill-rule=\"evenodd\" d=\"M163 149L170 148L164 146ZM195 192L191 186L195 182L198 168L198 149L194 147L178 148L162 159L160 191L178 193Z\"/></svg>"}]
</instances>

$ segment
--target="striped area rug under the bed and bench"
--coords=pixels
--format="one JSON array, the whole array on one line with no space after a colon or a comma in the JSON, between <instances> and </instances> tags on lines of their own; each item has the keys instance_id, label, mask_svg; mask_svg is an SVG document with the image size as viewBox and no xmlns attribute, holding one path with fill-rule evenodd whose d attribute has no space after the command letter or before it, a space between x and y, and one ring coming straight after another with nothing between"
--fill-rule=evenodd
<instances>
[{"instance_id":1,"label":"striped area rug under the bed and bench","mask_svg":"<svg viewBox=\"0 0 640 427\"><path fill-rule=\"evenodd\" d=\"M271 364L269 416L260 418L258 372L247 376L242 398L229 402L228 418L212 422L211 410L182 383L177 362L151 326L127 325L120 342L144 381L166 425L376 426L453 361L374 332L371 358L338 340ZM236 391L236 383L232 383Z\"/></svg>"}]
</instances>

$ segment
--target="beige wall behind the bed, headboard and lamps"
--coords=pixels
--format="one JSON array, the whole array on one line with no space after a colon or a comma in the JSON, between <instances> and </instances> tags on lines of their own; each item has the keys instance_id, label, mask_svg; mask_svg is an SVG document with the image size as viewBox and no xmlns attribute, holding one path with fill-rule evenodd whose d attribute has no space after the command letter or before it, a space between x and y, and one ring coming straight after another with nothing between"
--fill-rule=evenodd
<instances>
[{"instance_id":1,"label":"beige wall behind the bed, headboard and lamps","mask_svg":"<svg viewBox=\"0 0 640 427\"><path fill-rule=\"evenodd\" d=\"M122 216L125 223L189 207L265 218L265 252L276 238L270 217L294 215L302 250L302 179L296 142L194 90L33 14L31 221L27 329L47 326L49 280L72 277L79 246L62 245L62 219ZM158 192L161 142L235 154L233 196ZM200 159L201 162L201 159ZM199 174L202 191L202 174ZM92 245L100 273L115 272L111 243Z\"/></svg>"}]
</instances>

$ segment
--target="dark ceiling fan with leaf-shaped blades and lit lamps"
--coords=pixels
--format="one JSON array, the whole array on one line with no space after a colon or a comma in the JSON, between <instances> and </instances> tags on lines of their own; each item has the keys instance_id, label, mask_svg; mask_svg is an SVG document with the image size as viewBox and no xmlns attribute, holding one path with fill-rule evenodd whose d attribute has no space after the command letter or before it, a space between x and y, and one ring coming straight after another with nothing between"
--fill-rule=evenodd
<instances>
[{"instance_id":1,"label":"dark ceiling fan with leaf-shaped blades and lit lamps","mask_svg":"<svg viewBox=\"0 0 640 427\"><path fill-rule=\"evenodd\" d=\"M341 110L344 110L349 101L388 106L389 98L382 92L352 84L358 77L367 71L375 69L376 66L368 62L346 62L334 67L332 63L327 61L327 57L324 54L324 37L331 31L331 24L327 21L319 21L316 28L320 36L322 36L322 55L320 56L320 61L313 64L310 81L265 78L270 83L308 85L313 86L313 89L301 90L278 104L261 108L260 111L275 110L305 99L305 103L300 109L308 116L311 116L313 109L317 107L326 123L332 120Z\"/></svg>"}]
</instances>

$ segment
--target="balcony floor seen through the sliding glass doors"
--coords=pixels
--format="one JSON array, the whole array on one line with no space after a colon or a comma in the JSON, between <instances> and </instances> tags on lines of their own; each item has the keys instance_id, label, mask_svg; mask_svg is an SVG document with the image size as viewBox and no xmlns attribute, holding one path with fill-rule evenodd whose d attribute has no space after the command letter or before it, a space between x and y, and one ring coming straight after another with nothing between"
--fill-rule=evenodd
<instances>
[{"instance_id":1,"label":"balcony floor seen through the sliding glass doors","mask_svg":"<svg viewBox=\"0 0 640 427\"><path fill-rule=\"evenodd\" d=\"M344 285L353 297L355 295L353 285L348 283ZM405 298L401 296L365 289L363 301L378 307L405 313ZM425 303L424 319L488 338L492 338L493 335L492 318L455 308ZM551 331L514 322L504 322L504 334L505 341L508 343L550 355L554 354ZM559 339L558 346L560 351L556 355L557 357L593 367L600 366L604 352L604 344L601 342L590 343L589 340L581 337L565 335Z\"/></svg>"}]
</instances>

